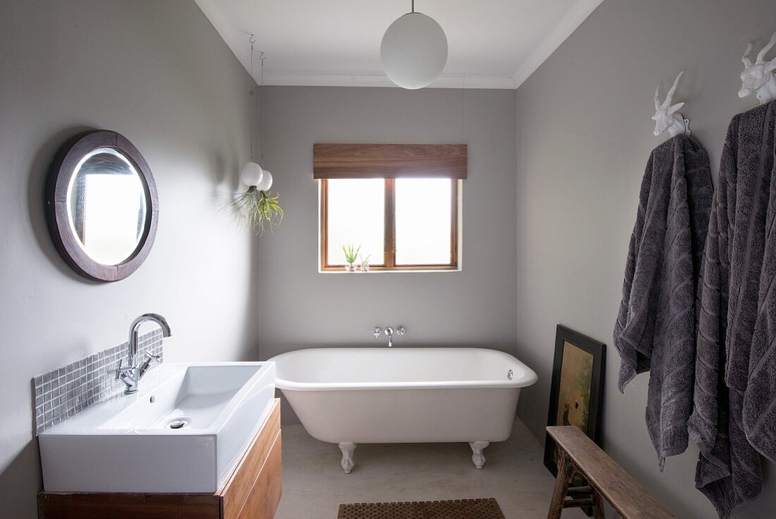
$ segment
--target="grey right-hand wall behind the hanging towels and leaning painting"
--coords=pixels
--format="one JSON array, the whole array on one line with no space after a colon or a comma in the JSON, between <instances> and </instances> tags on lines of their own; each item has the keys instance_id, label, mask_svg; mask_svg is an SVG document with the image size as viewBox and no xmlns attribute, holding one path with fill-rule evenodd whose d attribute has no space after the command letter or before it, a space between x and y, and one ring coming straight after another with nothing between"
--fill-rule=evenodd
<instances>
[{"instance_id":1,"label":"grey right-hand wall behind the hanging towels and leaning painting","mask_svg":"<svg viewBox=\"0 0 776 519\"><path fill-rule=\"evenodd\" d=\"M519 414L543 439L556 323L611 345L639 183L655 138L653 93L679 71L682 113L705 145L716 176L740 100L740 57L776 30L772 0L605 0L518 89L518 354L539 373ZM759 47L758 47L759 48ZM625 395L619 357L607 356L606 450L677 517L715 517L692 484L698 451L669 458L660 474L644 426L648 375ZM771 517L774 467L763 496L735 517Z\"/></svg>"}]
</instances>

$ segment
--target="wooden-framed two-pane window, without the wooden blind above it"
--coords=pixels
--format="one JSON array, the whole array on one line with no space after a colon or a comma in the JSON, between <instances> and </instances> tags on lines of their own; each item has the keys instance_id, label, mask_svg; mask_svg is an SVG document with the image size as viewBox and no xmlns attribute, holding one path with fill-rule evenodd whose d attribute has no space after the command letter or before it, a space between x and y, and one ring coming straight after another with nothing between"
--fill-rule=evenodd
<instances>
[{"instance_id":1,"label":"wooden-framed two-pane window, without the wooden blind above it","mask_svg":"<svg viewBox=\"0 0 776 519\"><path fill-rule=\"evenodd\" d=\"M457 179L321 179L321 270L361 246L374 270L458 268Z\"/></svg>"}]
</instances>

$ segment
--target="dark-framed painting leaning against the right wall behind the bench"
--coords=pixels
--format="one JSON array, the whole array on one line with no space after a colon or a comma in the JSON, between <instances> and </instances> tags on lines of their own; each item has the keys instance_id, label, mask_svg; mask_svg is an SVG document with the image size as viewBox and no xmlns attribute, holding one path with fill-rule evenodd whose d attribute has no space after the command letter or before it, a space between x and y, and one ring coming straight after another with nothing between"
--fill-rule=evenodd
<instances>
[{"instance_id":1,"label":"dark-framed painting leaning against the right wall behind the bench","mask_svg":"<svg viewBox=\"0 0 776 519\"><path fill-rule=\"evenodd\" d=\"M557 326L548 426L577 426L598 444L605 355L604 343L566 326ZM554 476L558 475L558 459L555 441L546 434L544 465Z\"/></svg>"}]
</instances>

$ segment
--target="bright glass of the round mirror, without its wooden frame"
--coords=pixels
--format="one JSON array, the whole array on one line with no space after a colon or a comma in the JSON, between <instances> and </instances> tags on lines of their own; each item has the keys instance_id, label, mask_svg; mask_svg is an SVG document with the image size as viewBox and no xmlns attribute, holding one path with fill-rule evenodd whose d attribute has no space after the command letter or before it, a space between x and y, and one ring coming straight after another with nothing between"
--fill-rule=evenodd
<instances>
[{"instance_id":1,"label":"bright glass of the round mirror, without its wooden frame","mask_svg":"<svg viewBox=\"0 0 776 519\"><path fill-rule=\"evenodd\" d=\"M71 232L102 265L130 259L140 246L148 215L144 180L126 156L97 148L75 167L68 186Z\"/></svg>"}]
</instances>

